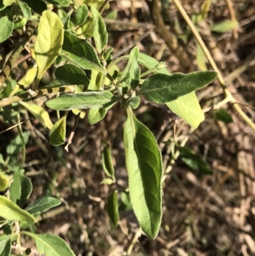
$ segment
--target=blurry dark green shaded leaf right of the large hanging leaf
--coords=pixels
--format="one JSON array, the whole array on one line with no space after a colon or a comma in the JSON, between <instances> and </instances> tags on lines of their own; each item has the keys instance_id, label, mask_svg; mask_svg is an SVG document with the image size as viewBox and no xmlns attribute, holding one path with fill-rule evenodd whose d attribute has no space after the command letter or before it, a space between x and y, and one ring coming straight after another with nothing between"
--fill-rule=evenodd
<instances>
[{"instance_id":1,"label":"blurry dark green shaded leaf right of the large hanging leaf","mask_svg":"<svg viewBox=\"0 0 255 256\"><path fill-rule=\"evenodd\" d=\"M208 163L203 160L201 156L194 154L189 147L181 147L179 145L176 145L176 147L180 152L180 159L182 162L186 163L189 168L212 175L212 169L210 169Z\"/></svg>"}]
</instances>

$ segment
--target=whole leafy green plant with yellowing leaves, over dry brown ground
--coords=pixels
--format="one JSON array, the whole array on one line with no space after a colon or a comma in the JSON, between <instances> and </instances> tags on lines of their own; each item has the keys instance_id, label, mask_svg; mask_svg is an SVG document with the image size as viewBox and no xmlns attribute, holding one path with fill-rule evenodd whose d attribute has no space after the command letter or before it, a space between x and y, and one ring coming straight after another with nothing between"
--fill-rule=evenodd
<instances>
[{"instance_id":1,"label":"whole leafy green plant with yellowing leaves, over dry brown ground","mask_svg":"<svg viewBox=\"0 0 255 256\"><path fill-rule=\"evenodd\" d=\"M48 2L59 7L69 6L68 0ZM121 199L126 204L126 209L133 207L143 232L154 239L159 232L162 216L163 164L154 135L135 117L133 109L139 107L141 97L144 97L150 102L166 104L193 128L197 128L203 121L204 115L194 91L212 82L217 77L217 73L170 74L164 63L159 63L156 59L140 53L138 47L134 47L127 56L112 59L113 49L107 47L108 34L105 22L94 6L91 6L90 17L89 8L81 4L77 8L75 17L71 17L73 12L71 10L62 15L60 19L61 13L58 16L53 11L46 10L45 1L38 1L40 3L38 6L34 6L33 1L28 0L14 3L4 1L4 3L5 7L18 3L25 19L31 18L31 8L35 12L42 12L36 43L32 50L32 56L38 66L37 77L34 83L27 84L29 86L25 88L27 92L22 94L23 98L18 98L18 100L32 98L38 94L47 94L55 88L59 88L59 91L61 89L62 91L75 91L75 93L61 94L46 102L47 107L51 109L65 111L54 125L48 113L40 106L29 102L19 102L24 109L38 118L41 124L50 129L50 143L53 146L60 146L66 142L66 117L70 110L77 114L77 112L82 113L83 109L89 109L90 124L101 121L115 104L126 110L124 149L131 204L125 193L121 194ZM41 9L38 10L40 6ZM5 7L4 4L0 5L2 8L0 11ZM4 26L0 28L4 31L2 36L0 35L0 40L4 41L12 33L14 24L9 19L6 20L6 16L0 18L0 22L4 22L2 23ZM95 48L85 37L93 38ZM127 62L122 71L117 68L117 63L120 61ZM47 86L40 87L43 75L54 63L58 66L55 70L56 80ZM141 67L146 69L144 73L141 73ZM90 77L87 76L85 70L91 70ZM3 99L0 101L2 103L0 106L4 107L12 102ZM23 145L25 136L25 133L22 133L19 137ZM105 184L115 183L109 146L103 151L103 169L108 176L103 182ZM0 173L2 175L0 184L4 184L1 191L7 189L10 192L9 198L0 196L0 206L4 209L0 211L3 226L11 227L13 223L18 225L17 223L21 222L22 227L25 225L23 222L34 223L40 213L60 203L57 199L46 198L22 209L32 189L30 179L25 177L23 172L24 170L15 172L11 185L9 180ZM29 191L24 190L24 184L29 184ZM15 194L16 190L17 194ZM115 225L119 220L118 211L117 190L115 190L108 200L108 212ZM10 255L11 240L20 239L20 234L31 236L36 242L39 253L45 253L47 256L73 255L73 252L59 237L27 231L9 232L9 234L5 232L3 236L0 236L0 255Z\"/></svg>"}]
</instances>

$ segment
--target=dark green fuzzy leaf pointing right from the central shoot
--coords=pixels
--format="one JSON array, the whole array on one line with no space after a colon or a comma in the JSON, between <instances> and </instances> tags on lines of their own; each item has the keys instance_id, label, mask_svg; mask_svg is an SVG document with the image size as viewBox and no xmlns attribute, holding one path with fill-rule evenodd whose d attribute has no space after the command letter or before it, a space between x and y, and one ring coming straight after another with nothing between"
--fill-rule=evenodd
<instances>
[{"instance_id":1,"label":"dark green fuzzy leaf pointing right from the central shoot","mask_svg":"<svg viewBox=\"0 0 255 256\"><path fill-rule=\"evenodd\" d=\"M187 75L174 73L173 75L156 74L143 82L140 94L155 103L167 103L180 96L201 89L210 84L217 77L216 72L193 72Z\"/></svg>"}]
</instances>

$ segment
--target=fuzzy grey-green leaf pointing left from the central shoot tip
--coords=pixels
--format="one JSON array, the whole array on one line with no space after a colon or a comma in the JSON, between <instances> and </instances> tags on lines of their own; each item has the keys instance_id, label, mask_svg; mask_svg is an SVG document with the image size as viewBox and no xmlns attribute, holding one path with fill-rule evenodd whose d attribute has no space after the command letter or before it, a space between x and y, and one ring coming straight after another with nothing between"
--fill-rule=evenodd
<instances>
[{"instance_id":1,"label":"fuzzy grey-green leaf pointing left from the central shoot tip","mask_svg":"<svg viewBox=\"0 0 255 256\"><path fill-rule=\"evenodd\" d=\"M114 96L109 91L94 91L75 94L63 94L53 100L48 100L46 105L55 110L72 109L92 109L107 108L113 102L117 102L119 97Z\"/></svg>"}]
</instances>

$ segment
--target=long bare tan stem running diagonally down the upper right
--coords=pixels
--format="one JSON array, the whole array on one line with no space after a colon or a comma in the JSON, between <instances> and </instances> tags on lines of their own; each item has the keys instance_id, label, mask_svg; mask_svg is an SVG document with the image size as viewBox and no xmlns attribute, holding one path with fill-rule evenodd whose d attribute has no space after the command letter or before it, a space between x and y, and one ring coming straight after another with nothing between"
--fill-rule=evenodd
<instances>
[{"instance_id":1,"label":"long bare tan stem running diagonally down the upper right","mask_svg":"<svg viewBox=\"0 0 255 256\"><path fill-rule=\"evenodd\" d=\"M194 27L194 24L192 23L191 19L189 19L189 16L187 15L186 11L184 10L182 5L180 4L179 0L173 0L173 3L175 4L177 9L182 14L182 17L184 17L184 20L187 22L187 25L191 29L194 37L196 38L196 40L200 44L201 49L203 50L205 56L207 57L208 62L210 63L210 65L212 66L214 71L218 73L218 80L219 80L219 83L221 84L222 90L224 91L225 97L229 99L229 102L232 104L233 108L237 111L237 113L240 115L240 117L242 117L242 119L244 119L245 123L247 123L252 128L252 130L255 131L255 124L245 114L245 112L240 108L240 106L238 105L237 101L235 100L233 95L230 93L230 91L226 87L226 84L225 84L225 81L224 81L224 79L222 77L222 74L219 71L219 69L218 69L214 59L212 58L212 55L210 54L209 50L207 49L205 43L203 42L203 40L202 40L202 38L200 36L200 34L196 30L196 27Z\"/></svg>"}]
</instances>

